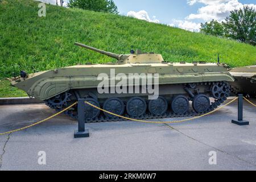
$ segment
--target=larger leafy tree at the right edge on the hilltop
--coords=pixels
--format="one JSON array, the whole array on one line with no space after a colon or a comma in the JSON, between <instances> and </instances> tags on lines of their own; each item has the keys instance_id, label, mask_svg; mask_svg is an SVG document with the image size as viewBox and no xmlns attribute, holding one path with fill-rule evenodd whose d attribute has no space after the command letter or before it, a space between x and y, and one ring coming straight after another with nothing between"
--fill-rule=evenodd
<instances>
[{"instance_id":1,"label":"larger leafy tree at the right edge on the hilltop","mask_svg":"<svg viewBox=\"0 0 256 182\"><path fill-rule=\"evenodd\" d=\"M243 9L231 11L225 20L226 36L256 45L256 10L253 7L244 6Z\"/></svg>"}]
</instances>

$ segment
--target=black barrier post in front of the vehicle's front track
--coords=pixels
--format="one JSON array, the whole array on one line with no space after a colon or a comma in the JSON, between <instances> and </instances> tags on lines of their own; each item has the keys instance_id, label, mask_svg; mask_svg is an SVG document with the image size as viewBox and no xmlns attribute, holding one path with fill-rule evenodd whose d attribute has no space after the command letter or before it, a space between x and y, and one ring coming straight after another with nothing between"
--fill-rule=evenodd
<instances>
[{"instance_id":1,"label":"black barrier post in front of the vehicle's front track","mask_svg":"<svg viewBox=\"0 0 256 182\"><path fill-rule=\"evenodd\" d=\"M78 111L78 130L75 131L74 133L74 138L85 138L85 137L90 137L89 130L85 130L85 115L84 115L84 110L85 110L85 99L79 99L78 100L78 106L77 106L77 111Z\"/></svg>"}]
</instances>

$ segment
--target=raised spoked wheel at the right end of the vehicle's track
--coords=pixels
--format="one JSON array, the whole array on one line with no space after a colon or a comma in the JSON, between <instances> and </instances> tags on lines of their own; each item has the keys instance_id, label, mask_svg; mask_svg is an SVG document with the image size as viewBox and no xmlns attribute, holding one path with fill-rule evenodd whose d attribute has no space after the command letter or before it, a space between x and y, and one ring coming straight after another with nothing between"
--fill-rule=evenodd
<instances>
[{"instance_id":1,"label":"raised spoked wheel at the right end of the vehicle's track","mask_svg":"<svg viewBox=\"0 0 256 182\"><path fill-rule=\"evenodd\" d=\"M229 92L230 88L229 85L223 82L218 82L214 85L212 85L212 88L210 89L212 91L212 97L215 99L221 99L226 96L226 94Z\"/></svg>"}]
</instances>

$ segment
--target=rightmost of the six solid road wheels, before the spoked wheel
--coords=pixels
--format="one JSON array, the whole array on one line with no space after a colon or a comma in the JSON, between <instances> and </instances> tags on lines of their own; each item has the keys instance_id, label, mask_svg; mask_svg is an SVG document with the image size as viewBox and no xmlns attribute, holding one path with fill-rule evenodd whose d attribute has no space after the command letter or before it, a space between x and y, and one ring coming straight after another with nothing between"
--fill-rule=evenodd
<instances>
[{"instance_id":1,"label":"rightmost of the six solid road wheels, before the spoked wheel","mask_svg":"<svg viewBox=\"0 0 256 182\"><path fill-rule=\"evenodd\" d=\"M192 106L197 113L204 113L210 107L210 99L205 94L199 94L193 99Z\"/></svg>"}]
</instances>

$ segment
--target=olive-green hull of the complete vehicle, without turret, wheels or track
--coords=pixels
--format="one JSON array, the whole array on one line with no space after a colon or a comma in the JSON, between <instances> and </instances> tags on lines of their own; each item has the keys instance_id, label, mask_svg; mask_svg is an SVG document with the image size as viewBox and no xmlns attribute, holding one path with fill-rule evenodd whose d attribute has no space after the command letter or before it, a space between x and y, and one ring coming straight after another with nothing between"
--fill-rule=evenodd
<instances>
[{"instance_id":1,"label":"olive-green hull of the complete vehicle, without turret, wheels or track","mask_svg":"<svg viewBox=\"0 0 256 182\"><path fill-rule=\"evenodd\" d=\"M159 85L189 84L200 82L234 81L234 78L226 69L216 64L124 64L124 65L80 65L60 68L47 72L34 73L21 81L13 81L13 85L24 90L31 97L39 100L48 100L68 90L95 89L100 82L99 76L103 73L108 76L109 87L118 84L118 80L112 80L119 73L126 75L123 86L140 86L135 82L130 84L129 74L135 73L156 76L158 74ZM147 80L148 81L148 80ZM177 93L180 90L177 90ZM119 97L122 95L119 95ZM83 97L83 96L82 96ZM99 97L108 97L102 94Z\"/></svg>"}]
</instances>

